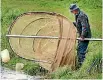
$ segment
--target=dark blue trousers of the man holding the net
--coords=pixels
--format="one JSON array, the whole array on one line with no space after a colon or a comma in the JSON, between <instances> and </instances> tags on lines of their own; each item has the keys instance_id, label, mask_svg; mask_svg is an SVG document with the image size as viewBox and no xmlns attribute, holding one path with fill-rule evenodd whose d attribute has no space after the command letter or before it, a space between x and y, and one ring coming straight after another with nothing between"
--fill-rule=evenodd
<instances>
[{"instance_id":1,"label":"dark blue trousers of the man holding the net","mask_svg":"<svg viewBox=\"0 0 103 80\"><path fill-rule=\"evenodd\" d=\"M85 59L85 54L86 54L88 44L89 44L89 41L78 41L77 57L78 57L78 63L80 65L82 65Z\"/></svg>"}]
</instances>

